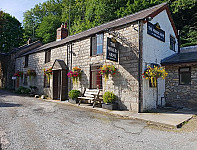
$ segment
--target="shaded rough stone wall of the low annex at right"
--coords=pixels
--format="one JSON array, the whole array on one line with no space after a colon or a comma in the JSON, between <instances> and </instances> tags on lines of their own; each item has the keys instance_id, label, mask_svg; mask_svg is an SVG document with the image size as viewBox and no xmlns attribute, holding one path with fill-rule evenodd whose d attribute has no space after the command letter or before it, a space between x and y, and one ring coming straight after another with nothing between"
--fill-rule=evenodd
<instances>
[{"instance_id":1,"label":"shaded rough stone wall of the low annex at right","mask_svg":"<svg viewBox=\"0 0 197 150\"><path fill-rule=\"evenodd\" d=\"M191 85L179 84L179 67L191 67ZM197 64L166 66L166 104L197 108Z\"/></svg>"}]
</instances>

